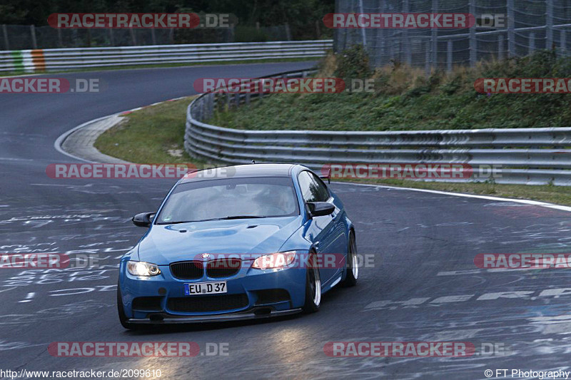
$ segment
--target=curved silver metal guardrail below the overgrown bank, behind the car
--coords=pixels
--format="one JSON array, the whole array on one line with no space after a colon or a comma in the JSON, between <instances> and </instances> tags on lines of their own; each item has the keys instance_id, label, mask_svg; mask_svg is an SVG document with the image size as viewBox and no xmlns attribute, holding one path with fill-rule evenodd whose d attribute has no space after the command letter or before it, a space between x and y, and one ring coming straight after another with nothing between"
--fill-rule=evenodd
<instances>
[{"instance_id":1,"label":"curved silver metal guardrail below the overgrown bank, behind the car","mask_svg":"<svg viewBox=\"0 0 571 380\"><path fill-rule=\"evenodd\" d=\"M312 72L272 77L299 78ZM571 128L353 132L236 130L203 122L217 106L239 106L255 96L260 95L206 93L196 98L186 114L186 151L201 160L295 162L315 170L333 163L497 165L501 176L495 183L571 186Z\"/></svg>"}]
</instances>

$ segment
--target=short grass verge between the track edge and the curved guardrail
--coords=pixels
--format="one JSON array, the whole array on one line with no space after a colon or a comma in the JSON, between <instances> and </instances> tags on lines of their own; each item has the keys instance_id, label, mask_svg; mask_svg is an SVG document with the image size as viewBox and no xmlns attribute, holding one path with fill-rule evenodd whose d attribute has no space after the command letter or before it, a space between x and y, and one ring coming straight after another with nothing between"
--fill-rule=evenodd
<instances>
[{"instance_id":1,"label":"short grass verge between the track edge and the curved guardrail","mask_svg":"<svg viewBox=\"0 0 571 380\"><path fill-rule=\"evenodd\" d=\"M180 157L169 153L183 151L186 107L192 97L143 108L126 116L126 122L103 133L96 141L101 152L133 163L205 163L186 152ZM518 199L540 200L571 206L569 188L556 186L497 185L493 183L423 183L411 180L350 180L396 187L462 192Z\"/></svg>"}]
</instances>

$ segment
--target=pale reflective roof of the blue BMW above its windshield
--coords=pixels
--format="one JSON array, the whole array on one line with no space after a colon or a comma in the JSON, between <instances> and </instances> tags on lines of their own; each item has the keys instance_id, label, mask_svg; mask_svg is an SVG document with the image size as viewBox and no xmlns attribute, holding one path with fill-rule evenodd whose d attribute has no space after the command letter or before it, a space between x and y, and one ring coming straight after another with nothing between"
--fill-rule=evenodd
<instances>
[{"instance_id":1,"label":"pale reflective roof of the blue BMW above its windshield","mask_svg":"<svg viewBox=\"0 0 571 380\"><path fill-rule=\"evenodd\" d=\"M294 168L303 168L295 164L248 164L236 166L224 166L207 170L198 170L181 180L181 183L188 183L198 180L217 180L222 178L247 178L247 177L290 177ZM201 175L202 174L202 175Z\"/></svg>"}]
</instances>

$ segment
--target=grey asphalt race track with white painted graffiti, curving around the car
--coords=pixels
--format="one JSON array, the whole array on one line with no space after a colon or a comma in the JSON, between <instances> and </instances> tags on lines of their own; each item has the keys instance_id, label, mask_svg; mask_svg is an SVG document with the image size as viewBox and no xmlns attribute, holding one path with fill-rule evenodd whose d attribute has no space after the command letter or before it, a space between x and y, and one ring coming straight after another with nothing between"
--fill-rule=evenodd
<instances>
[{"instance_id":1,"label":"grey asphalt race track with white painted graffiti, curving around the car","mask_svg":"<svg viewBox=\"0 0 571 380\"><path fill-rule=\"evenodd\" d=\"M333 184L355 222L358 287L325 294L320 312L128 332L118 322L118 257L144 230L173 180L54 180L66 130L94 118L193 93L201 77L248 77L311 62L152 68L58 75L101 78L103 93L0 95L0 251L98 257L94 269L0 269L0 369L161 369L162 379L485 379L485 369L570 367L571 275L487 270L480 253L570 252L571 214L535 205ZM193 358L55 357L51 342L197 342ZM463 358L329 357L327 342L471 342ZM209 356L207 345L227 347ZM483 352L482 347L496 347ZM221 347L221 346L219 346Z\"/></svg>"}]
</instances>

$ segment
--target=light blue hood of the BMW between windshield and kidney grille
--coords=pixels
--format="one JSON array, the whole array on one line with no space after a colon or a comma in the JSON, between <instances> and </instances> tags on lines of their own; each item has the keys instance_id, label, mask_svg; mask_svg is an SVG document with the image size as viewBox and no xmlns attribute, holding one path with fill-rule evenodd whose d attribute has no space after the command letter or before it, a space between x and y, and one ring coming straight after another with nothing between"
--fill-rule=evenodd
<instances>
[{"instance_id":1,"label":"light blue hood of the BMW between windshield and kidney grille","mask_svg":"<svg viewBox=\"0 0 571 380\"><path fill-rule=\"evenodd\" d=\"M168 265L194 260L202 253L278 252L301 222L296 216L153 225L138 244L138 257Z\"/></svg>"}]
</instances>

